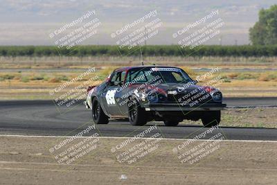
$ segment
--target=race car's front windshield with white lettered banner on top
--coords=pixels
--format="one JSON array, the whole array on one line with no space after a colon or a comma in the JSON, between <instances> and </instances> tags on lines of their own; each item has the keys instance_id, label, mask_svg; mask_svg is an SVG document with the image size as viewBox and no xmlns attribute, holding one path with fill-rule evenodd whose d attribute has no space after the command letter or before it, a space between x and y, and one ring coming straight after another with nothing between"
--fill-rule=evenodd
<instances>
[{"instance_id":1,"label":"race car's front windshield with white lettered banner on top","mask_svg":"<svg viewBox=\"0 0 277 185\"><path fill-rule=\"evenodd\" d=\"M186 83L191 78L181 69L175 67L145 67L130 69L126 82L151 83L161 79L161 83Z\"/></svg>"}]
</instances>

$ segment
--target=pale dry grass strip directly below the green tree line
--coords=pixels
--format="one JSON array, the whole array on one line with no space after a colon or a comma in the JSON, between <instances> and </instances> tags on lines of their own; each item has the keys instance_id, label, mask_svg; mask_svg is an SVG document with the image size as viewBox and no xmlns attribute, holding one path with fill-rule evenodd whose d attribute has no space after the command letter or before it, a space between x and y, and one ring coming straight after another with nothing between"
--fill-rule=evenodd
<instances>
[{"instance_id":1,"label":"pale dry grass strip directly below the green tree line","mask_svg":"<svg viewBox=\"0 0 277 185\"><path fill-rule=\"evenodd\" d=\"M234 58L234 57L147 57L145 64L161 64L186 67L255 68L276 67L277 58ZM112 65L132 66L141 64L136 57L0 57L0 69L71 69Z\"/></svg>"}]
</instances>

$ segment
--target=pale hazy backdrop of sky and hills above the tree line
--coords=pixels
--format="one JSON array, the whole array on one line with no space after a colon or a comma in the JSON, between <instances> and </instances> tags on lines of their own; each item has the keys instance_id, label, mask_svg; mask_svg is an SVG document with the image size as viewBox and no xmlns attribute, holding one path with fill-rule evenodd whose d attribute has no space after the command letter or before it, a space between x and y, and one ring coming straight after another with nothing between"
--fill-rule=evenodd
<instances>
[{"instance_id":1,"label":"pale hazy backdrop of sky and hills above the tree line","mask_svg":"<svg viewBox=\"0 0 277 185\"><path fill-rule=\"evenodd\" d=\"M224 21L224 26L220 28L220 35L204 44L219 44L220 38L222 44L235 44L235 40L238 44L249 44L248 31L258 20L258 10L269 8L274 3L277 3L276 0L0 0L0 45L53 45L55 39L49 37L50 33L93 10L96 13L91 19L97 18L101 24L97 34L85 39L82 44L116 44L111 33L153 10L157 10L156 18L161 20L162 25L159 33L148 39L147 44L177 44L173 33L213 10L219 10L217 17ZM66 31L80 26L82 24L76 24ZM129 31L135 29L130 28ZM193 33L193 29L190 31Z\"/></svg>"}]
</instances>

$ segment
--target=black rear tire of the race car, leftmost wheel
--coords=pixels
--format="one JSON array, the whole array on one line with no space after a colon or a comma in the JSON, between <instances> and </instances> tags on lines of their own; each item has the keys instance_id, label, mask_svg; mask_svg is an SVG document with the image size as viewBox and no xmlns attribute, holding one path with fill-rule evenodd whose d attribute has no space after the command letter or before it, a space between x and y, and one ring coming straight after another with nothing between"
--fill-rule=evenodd
<instances>
[{"instance_id":1,"label":"black rear tire of the race car, leftmost wheel","mask_svg":"<svg viewBox=\"0 0 277 185\"><path fill-rule=\"evenodd\" d=\"M103 112L97 98L93 98L92 101L92 119L96 124L109 123L109 117Z\"/></svg>"}]
</instances>

